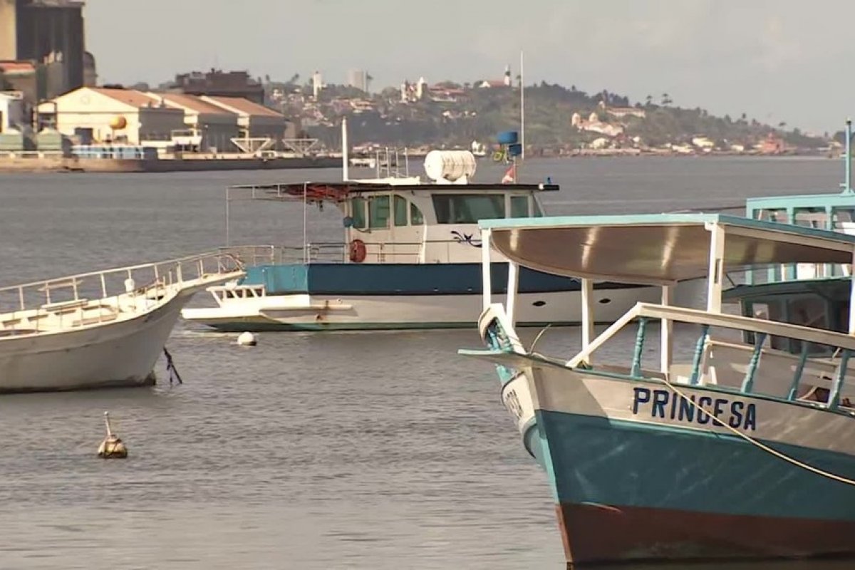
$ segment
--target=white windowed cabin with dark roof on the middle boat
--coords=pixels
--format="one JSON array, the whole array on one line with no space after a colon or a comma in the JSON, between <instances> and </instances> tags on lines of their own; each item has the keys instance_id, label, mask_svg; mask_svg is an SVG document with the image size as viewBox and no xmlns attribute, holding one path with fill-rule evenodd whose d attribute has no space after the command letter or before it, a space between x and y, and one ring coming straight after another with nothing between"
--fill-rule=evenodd
<instances>
[{"instance_id":1,"label":"white windowed cabin with dark roof on the middle boat","mask_svg":"<svg viewBox=\"0 0 855 570\"><path fill-rule=\"evenodd\" d=\"M345 263L477 263L478 221L543 215L547 184L422 184L417 179L233 186L229 200L321 206L342 214L344 241L304 244L303 260Z\"/></svg>"}]
</instances>

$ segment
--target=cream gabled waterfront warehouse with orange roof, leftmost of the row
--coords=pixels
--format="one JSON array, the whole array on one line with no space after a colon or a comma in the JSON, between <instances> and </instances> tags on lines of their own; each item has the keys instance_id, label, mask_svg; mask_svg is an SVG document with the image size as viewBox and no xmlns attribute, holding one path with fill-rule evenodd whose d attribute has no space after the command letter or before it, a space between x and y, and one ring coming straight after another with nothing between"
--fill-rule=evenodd
<instances>
[{"instance_id":1,"label":"cream gabled waterfront warehouse with orange roof, leftmost of the row","mask_svg":"<svg viewBox=\"0 0 855 570\"><path fill-rule=\"evenodd\" d=\"M133 89L80 87L38 105L42 124L53 123L68 137L92 142L168 141L184 126L184 112L156 103Z\"/></svg>"}]
</instances>

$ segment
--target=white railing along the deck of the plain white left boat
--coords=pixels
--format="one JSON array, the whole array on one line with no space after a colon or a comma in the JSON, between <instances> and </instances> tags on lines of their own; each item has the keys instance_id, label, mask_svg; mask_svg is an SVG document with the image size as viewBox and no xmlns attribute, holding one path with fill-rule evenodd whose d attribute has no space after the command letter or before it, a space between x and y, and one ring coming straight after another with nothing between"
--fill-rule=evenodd
<instances>
[{"instance_id":1,"label":"white railing along the deck of the plain white left boat","mask_svg":"<svg viewBox=\"0 0 855 570\"><path fill-rule=\"evenodd\" d=\"M156 307L162 298L193 282L243 271L234 256L204 253L168 261L78 273L21 285L0 287L0 330L51 330L113 320L122 311Z\"/></svg>"}]
</instances>

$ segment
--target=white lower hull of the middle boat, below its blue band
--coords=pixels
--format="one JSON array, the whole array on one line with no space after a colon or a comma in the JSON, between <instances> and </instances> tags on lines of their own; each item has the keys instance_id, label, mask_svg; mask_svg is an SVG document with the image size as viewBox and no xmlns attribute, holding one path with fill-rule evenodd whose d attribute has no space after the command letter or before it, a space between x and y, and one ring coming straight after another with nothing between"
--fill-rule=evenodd
<instances>
[{"instance_id":1,"label":"white lower hull of the middle boat, below its blue band","mask_svg":"<svg viewBox=\"0 0 855 570\"><path fill-rule=\"evenodd\" d=\"M656 287L595 289L595 319L611 322L640 301L656 302ZM504 303L504 295L494 296ZM581 323L581 292L517 296L517 326ZM229 299L213 309L184 309L186 320L222 331L396 330L475 327L481 295L331 297L276 295Z\"/></svg>"}]
</instances>

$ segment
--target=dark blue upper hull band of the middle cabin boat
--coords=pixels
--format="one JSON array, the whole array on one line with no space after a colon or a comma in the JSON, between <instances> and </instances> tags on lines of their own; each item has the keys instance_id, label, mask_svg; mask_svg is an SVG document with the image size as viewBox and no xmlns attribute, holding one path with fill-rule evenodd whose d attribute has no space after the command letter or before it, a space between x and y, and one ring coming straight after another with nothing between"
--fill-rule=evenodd
<instances>
[{"instance_id":1,"label":"dark blue upper hull band of the middle cabin boat","mask_svg":"<svg viewBox=\"0 0 855 570\"><path fill-rule=\"evenodd\" d=\"M480 263L311 263L250 267L245 285L268 295L481 295ZM492 264L492 292L507 292L508 264ZM641 285L595 284L596 289ZM579 279L520 268L519 292L580 291Z\"/></svg>"}]
</instances>

